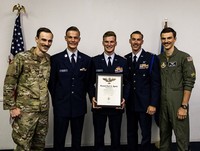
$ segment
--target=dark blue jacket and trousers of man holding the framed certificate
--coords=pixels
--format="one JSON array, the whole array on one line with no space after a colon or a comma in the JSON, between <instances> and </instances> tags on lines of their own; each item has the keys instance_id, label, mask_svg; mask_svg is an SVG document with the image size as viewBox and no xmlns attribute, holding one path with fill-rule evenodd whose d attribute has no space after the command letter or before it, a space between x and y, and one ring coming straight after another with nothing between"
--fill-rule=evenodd
<instances>
[{"instance_id":1,"label":"dark blue jacket and trousers of man holding the framed certificate","mask_svg":"<svg viewBox=\"0 0 200 151\"><path fill-rule=\"evenodd\" d=\"M114 55L113 64L109 67L106 64L104 54L95 56L92 58L93 64L93 78L91 82L90 89L90 99L95 97L95 87L96 83L96 74L97 73L108 73L108 74L123 74L123 98L128 99L129 95L129 83L128 83L128 68L126 59ZM98 101L98 100L97 100ZM101 109L92 109L93 111L93 125L94 125L94 134L95 134L95 151L104 151L104 135L107 118L109 119L109 129L111 133L111 150L119 151L120 150L120 136L121 136L121 122L122 122L122 109L115 108L101 108Z\"/></svg>"}]
</instances>

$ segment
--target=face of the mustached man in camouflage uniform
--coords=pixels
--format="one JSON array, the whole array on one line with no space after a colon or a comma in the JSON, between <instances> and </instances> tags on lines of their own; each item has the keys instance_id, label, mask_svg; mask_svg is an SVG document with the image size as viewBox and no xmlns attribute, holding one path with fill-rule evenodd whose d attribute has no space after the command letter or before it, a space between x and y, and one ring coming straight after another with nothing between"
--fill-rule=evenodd
<instances>
[{"instance_id":1,"label":"face of the mustached man in camouflage uniform","mask_svg":"<svg viewBox=\"0 0 200 151\"><path fill-rule=\"evenodd\" d=\"M39 37L35 37L37 48L40 52L46 53L52 45L53 35L47 32L41 32Z\"/></svg>"}]
</instances>

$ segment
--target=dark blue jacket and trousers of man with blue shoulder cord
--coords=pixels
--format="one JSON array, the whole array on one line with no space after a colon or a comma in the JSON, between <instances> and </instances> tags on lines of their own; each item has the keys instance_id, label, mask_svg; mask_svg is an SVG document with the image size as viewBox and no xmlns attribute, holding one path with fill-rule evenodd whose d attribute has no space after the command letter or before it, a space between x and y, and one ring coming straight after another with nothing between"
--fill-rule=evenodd
<instances>
[{"instance_id":1,"label":"dark blue jacket and trousers of man with blue shoulder cord","mask_svg":"<svg viewBox=\"0 0 200 151\"><path fill-rule=\"evenodd\" d=\"M133 53L127 54L131 91L127 101L128 150L138 150L138 122L142 131L141 150L151 150L152 117L147 114L148 106L157 107L160 100L160 69L156 55L141 50L133 64Z\"/></svg>"}]
</instances>

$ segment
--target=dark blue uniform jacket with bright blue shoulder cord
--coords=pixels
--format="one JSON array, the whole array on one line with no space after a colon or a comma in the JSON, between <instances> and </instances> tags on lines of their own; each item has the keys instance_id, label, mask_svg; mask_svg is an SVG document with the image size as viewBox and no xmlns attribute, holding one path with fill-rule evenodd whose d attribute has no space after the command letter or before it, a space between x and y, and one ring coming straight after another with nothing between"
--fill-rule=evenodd
<instances>
[{"instance_id":1,"label":"dark blue uniform jacket with bright blue shoulder cord","mask_svg":"<svg viewBox=\"0 0 200 151\"><path fill-rule=\"evenodd\" d=\"M152 61L152 57L154 59ZM156 55L142 50L135 69L132 53L125 56L131 78L131 91L127 101L127 111L146 112L149 105L158 106L160 101L160 67Z\"/></svg>"}]
</instances>

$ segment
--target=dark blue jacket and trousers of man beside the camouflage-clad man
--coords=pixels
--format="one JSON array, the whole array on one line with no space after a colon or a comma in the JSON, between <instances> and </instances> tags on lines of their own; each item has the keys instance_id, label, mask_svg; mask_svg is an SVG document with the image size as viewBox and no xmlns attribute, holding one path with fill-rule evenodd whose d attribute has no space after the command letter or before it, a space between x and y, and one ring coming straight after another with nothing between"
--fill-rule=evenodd
<instances>
[{"instance_id":1,"label":"dark blue jacket and trousers of man beside the camouflage-clad man","mask_svg":"<svg viewBox=\"0 0 200 151\"><path fill-rule=\"evenodd\" d=\"M80 150L91 58L77 52L74 67L67 50L51 57L49 91L54 112L54 149L63 151L69 122L72 148Z\"/></svg>"}]
</instances>

